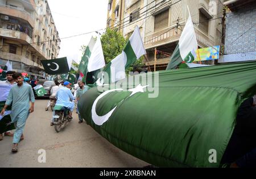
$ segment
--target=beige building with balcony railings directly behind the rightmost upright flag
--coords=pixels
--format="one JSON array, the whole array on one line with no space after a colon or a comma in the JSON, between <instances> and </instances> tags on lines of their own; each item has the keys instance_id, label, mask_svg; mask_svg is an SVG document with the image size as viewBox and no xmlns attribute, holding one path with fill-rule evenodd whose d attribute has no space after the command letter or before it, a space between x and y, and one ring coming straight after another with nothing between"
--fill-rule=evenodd
<instances>
[{"instance_id":1,"label":"beige building with balcony railings directly behind the rightmost upright flag","mask_svg":"<svg viewBox=\"0 0 256 179\"><path fill-rule=\"evenodd\" d=\"M195 24L199 48L222 45L223 0L147 0L150 3L147 8L154 10L147 12L144 46L151 69L155 64L155 48L156 70L166 69L188 18L187 7ZM206 63L214 64L214 61Z\"/></svg>"}]
</instances>

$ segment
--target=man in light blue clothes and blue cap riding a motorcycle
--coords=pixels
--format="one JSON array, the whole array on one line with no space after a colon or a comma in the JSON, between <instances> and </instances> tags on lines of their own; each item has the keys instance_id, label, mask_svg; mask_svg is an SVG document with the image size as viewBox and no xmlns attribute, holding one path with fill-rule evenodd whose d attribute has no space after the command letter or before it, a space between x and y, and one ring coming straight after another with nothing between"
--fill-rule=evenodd
<instances>
[{"instance_id":1,"label":"man in light blue clothes and blue cap riding a motorcycle","mask_svg":"<svg viewBox=\"0 0 256 179\"><path fill-rule=\"evenodd\" d=\"M68 81L64 82L64 87L60 88L56 93L56 105L65 106L69 109L69 117L72 118L72 112L75 108L75 103L71 100L74 100L75 97L71 93L71 83Z\"/></svg>"}]
</instances>

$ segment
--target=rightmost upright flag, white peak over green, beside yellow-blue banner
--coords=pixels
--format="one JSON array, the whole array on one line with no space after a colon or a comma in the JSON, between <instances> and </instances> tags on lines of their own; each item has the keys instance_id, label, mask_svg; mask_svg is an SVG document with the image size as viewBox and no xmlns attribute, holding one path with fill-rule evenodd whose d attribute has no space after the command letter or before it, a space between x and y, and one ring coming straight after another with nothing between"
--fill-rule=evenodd
<instances>
[{"instance_id":1,"label":"rightmost upright flag, white peak over green, beside yellow-blue banner","mask_svg":"<svg viewBox=\"0 0 256 179\"><path fill-rule=\"evenodd\" d=\"M180 65L183 61L185 63L192 63L196 59L195 51L197 47L196 33L189 13L187 23L180 36L179 44L175 48L166 70L176 68L176 66Z\"/></svg>"}]
</instances>

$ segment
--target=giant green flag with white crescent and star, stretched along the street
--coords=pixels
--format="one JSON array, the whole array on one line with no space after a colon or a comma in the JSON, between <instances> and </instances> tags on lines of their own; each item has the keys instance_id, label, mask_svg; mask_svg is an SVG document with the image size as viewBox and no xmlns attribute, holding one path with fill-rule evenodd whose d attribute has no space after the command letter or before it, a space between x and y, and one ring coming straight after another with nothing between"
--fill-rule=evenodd
<instances>
[{"instance_id":1,"label":"giant green flag with white crescent and star, stretched along the street","mask_svg":"<svg viewBox=\"0 0 256 179\"><path fill-rule=\"evenodd\" d=\"M86 91L78 106L100 135L147 163L218 167L255 76L256 61L139 74L129 87Z\"/></svg>"}]
</instances>

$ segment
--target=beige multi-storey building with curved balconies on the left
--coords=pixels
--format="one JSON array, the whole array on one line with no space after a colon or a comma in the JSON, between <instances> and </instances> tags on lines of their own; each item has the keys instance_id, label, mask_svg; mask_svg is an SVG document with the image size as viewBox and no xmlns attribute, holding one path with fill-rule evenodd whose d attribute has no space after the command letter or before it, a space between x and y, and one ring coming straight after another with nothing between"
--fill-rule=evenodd
<instances>
[{"instance_id":1,"label":"beige multi-storey building with curved balconies on the left","mask_svg":"<svg viewBox=\"0 0 256 179\"><path fill-rule=\"evenodd\" d=\"M57 58L58 39L47 0L0 0L0 65L43 77L40 60Z\"/></svg>"}]
</instances>

